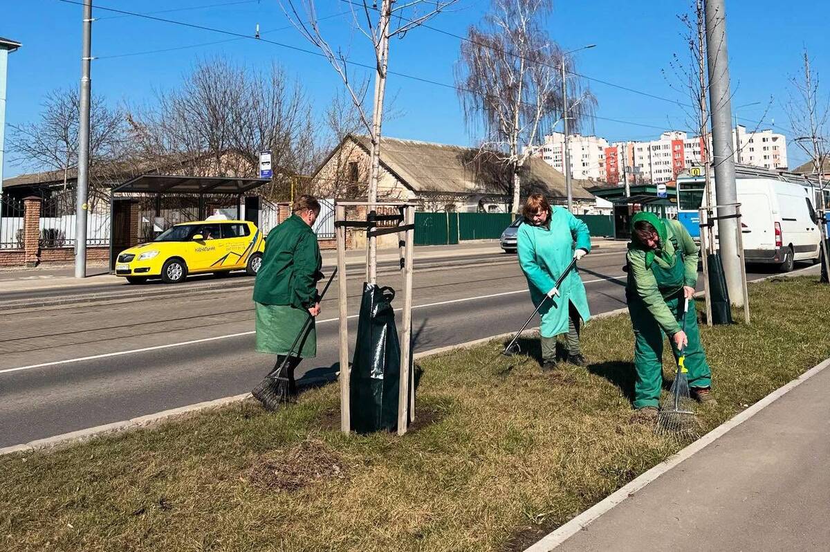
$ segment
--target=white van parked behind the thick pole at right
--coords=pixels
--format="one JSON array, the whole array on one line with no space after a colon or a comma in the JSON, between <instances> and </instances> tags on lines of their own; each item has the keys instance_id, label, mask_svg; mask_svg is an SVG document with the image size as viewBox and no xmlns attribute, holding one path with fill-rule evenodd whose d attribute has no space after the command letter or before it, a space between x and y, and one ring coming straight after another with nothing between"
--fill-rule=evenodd
<instances>
[{"instance_id":1,"label":"white van parked behind the thick pole at right","mask_svg":"<svg viewBox=\"0 0 830 552\"><path fill-rule=\"evenodd\" d=\"M779 264L819 260L821 232L809 194L798 183L774 178L737 178L746 262Z\"/></svg>"}]
</instances>

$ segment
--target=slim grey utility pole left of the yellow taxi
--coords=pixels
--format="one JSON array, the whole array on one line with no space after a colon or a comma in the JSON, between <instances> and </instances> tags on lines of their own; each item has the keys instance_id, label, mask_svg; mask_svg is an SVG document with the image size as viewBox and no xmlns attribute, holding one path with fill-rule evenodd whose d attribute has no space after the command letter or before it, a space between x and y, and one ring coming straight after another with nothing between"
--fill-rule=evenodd
<instances>
[{"instance_id":1,"label":"slim grey utility pole left of the yellow taxi","mask_svg":"<svg viewBox=\"0 0 830 552\"><path fill-rule=\"evenodd\" d=\"M86 203L90 178L90 61L92 61L92 0L84 0L81 54L81 120L78 128L78 182L75 192L75 277L86 277Z\"/></svg>"}]
</instances>

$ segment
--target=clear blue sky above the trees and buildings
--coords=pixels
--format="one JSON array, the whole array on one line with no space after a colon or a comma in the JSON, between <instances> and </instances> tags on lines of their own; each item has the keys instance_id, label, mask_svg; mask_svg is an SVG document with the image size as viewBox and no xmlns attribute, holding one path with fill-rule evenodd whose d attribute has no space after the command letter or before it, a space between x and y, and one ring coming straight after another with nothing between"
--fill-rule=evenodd
<instances>
[{"instance_id":1,"label":"clear blue sky above the trees and buildings","mask_svg":"<svg viewBox=\"0 0 830 552\"><path fill-rule=\"evenodd\" d=\"M235 3L217 5L227 2ZM488 3L461 0L456 11L442 14L431 26L463 35L466 27L481 20ZM565 49L598 45L577 55L577 70L584 75L687 102L681 92L672 90L663 73L671 75L673 53L685 55L677 14L687 4L687 0L558 0L549 18L549 32ZM246 35L253 34L258 22L262 36L269 40L313 49L294 29L286 28L288 22L278 0L100 0L95 5L142 13L185 8L154 15ZM317 5L321 17L349 9L339 0L318 0ZM774 121L774 128L789 137L784 103L790 93L788 78L799 70L803 47L808 47L820 76L830 68L825 53L830 51L826 32L830 2L790 0L783 9L780 0L726 0L726 7L733 105L760 102L740 110L740 118L745 119L741 122L754 128L749 120L763 118L761 128L769 128ZM23 43L9 57L7 123L37 120L47 92L78 85L81 10L81 6L58 0L0 0L0 36ZM281 63L303 82L320 112L340 86L339 76L323 58L248 39L123 56L232 37L116 15L104 10L95 12L99 21L94 24L92 45L93 56L99 58L92 64L93 90L112 104L152 102L156 90L176 87L199 58L217 55L251 66ZM368 42L349 31L349 22L349 15L341 15L327 19L321 27L331 42L349 47L354 60L371 62ZM452 84L458 49L457 38L420 28L403 40L393 41L390 68ZM650 139L657 137L660 129L683 129L688 125L683 110L670 102L595 81L590 86L598 98L594 130L608 139ZM830 86L824 91L830 92ZM388 92L396 96L395 106L403 115L389 121L384 134L448 144L470 144L476 138L466 129L455 90L391 76ZM805 160L794 144L789 144L788 153L790 166ZM7 162L7 178L19 172L20 168Z\"/></svg>"}]
</instances>

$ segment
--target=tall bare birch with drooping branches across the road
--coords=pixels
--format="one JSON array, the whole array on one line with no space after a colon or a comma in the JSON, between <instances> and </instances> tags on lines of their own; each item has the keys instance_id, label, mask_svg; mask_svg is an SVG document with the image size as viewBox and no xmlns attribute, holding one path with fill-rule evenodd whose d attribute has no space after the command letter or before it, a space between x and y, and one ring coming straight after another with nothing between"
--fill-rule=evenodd
<instances>
[{"instance_id":1,"label":"tall bare birch with drooping branches across the road","mask_svg":"<svg viewBox=\"0 0 830 552\"><path fill-rule=\"evenodd\" d=\"M544 30L552 7L552 0L492 0L484 21L468 29L456 64L471 133L483 131L481 150L497 152L510 166L514 213L520 209L520 169L544 134L564 120L566 111L571 128L578 130L597 105L574 74L573 60Z\"/></svg>"}]
</instances>

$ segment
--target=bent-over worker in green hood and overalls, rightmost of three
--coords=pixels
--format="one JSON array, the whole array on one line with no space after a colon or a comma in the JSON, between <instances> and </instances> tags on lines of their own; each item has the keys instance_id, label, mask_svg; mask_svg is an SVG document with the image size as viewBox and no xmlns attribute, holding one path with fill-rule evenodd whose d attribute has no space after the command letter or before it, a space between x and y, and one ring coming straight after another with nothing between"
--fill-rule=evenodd
<instances>
[{"instance_id":1,"label":"bent-over worker in green hood and overalls, rightmost of three","mask_svg":"<svg viewBox=\"0 0 830 552\"><path fill-rule=\"evenodd\" d=\"M701 345L694 305L698 247L680 222L638 212L632 217L632 239L626 256L626 299L634 327L634 408L657 417L663 371L663 335L675 359L686 354L691 394L700 403L715 404L711 372ZM686 299L691 301L683 330Z\"/></svg>"}]
</instances>

